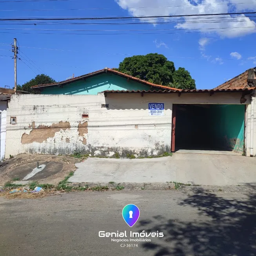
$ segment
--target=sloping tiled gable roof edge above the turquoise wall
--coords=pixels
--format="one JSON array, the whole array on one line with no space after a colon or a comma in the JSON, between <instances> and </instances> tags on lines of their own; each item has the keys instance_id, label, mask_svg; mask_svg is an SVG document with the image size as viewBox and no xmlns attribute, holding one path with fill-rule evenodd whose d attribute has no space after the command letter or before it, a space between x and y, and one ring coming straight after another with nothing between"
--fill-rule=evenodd
<instances>
[{"instance_id":1,"label":"sloping tiled gable roof edge above the turquoise wall","mask_svg":"<svg viewBox=\"0 0 256 256\"><path fill-rule=\"evenodd\" d=\"M71 84L73 82L77 82L77 81L82 80L84 78L89 78L89 77L96 76L98 74L107 73L107 72L113 73L113 74L116 74L116 75L119 75L119 76L123 76L125 78L129 78L129 79L131 79L133 81L136 81L136 82L139 82L141 84L145 84L145 85L149 85L149 86L153 86L153 87L158 87L158 88L162 88L162 89L169 89L170 88L170 87L167 87L167 86L164 86L164 85L153 84L153 83L150 83L148 81L142 80L140 78L130 76L128 74L116 71L114 69L109 69L107 67L105 69L94 71L92 73L85 74L85 75L82 75L82 76L77 76L77 77L74 77L74 78L71 78L71 79L68 79L68 80L64 80L62 82L56 82L56 83L52 83L52 84L34 85L34 86L31 86L31 88L43 88L43 87L51 87L51 86L60 86L60 85L65 85L65 84ZM175 88L171 88L171 89L175 89ZM179 90L179 89L176 89L176 90Z\"/></svg>"}]
</instances>

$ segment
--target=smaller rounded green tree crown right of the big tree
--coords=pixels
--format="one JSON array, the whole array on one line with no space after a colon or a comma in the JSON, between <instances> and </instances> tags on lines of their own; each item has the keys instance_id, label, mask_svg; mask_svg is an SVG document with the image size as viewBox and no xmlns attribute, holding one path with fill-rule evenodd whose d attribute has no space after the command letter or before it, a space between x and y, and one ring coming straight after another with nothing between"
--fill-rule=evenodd
<instances>
[{"instance_id":1,"label":"smaller rounded green tree crown right of the big tree","mask_svg":"<svg viewBox=\"0 0 256 256\"><path fill-rule=\"evenodd\" d=\"M173 80L180 85L180 89L193 90L196 89L196 82L192 79L189 71L183 67L179 67L174 74Z\"/></svg>"}]
</instances>

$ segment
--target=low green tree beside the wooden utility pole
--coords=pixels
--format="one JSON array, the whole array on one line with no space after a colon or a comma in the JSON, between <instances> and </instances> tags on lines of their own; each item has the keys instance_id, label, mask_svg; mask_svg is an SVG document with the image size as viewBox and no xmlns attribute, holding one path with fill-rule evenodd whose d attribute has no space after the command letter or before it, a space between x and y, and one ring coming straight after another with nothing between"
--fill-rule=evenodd
<instances>
[{"instance_id":1,"label":"low green tree beside the wooden utility pole","mask_svg":"<svg viewBox=\"0 0 256 256\"><path fill-rule=\"evenodd\" d=\"M17 90L26 91L29 93L39 93L39 91L31 89L31 86L40 85L40 84L51 84L51 83L56 83L56 81L50 76L47 76L45 74L38 74L35 78L31 79L29 82L26 82L23 85L17 85Z\"/></svg>"}]
</instances>

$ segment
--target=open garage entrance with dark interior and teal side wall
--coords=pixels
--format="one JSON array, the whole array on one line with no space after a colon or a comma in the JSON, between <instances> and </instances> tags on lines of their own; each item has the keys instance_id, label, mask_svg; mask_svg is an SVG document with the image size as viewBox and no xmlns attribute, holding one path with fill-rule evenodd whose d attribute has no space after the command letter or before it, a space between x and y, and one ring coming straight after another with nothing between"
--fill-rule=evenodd
<instances>
[{"instance_id":1,"label":"open garage entrance with dark interior and teal side wall","mask_svg":"<svg viewBox=\"0 0 256 256\"><path fill-rule=\"evenodd\" d=\"M172 151L243 154L245 105L173 104Z\"/></svg>"}]
</instances>

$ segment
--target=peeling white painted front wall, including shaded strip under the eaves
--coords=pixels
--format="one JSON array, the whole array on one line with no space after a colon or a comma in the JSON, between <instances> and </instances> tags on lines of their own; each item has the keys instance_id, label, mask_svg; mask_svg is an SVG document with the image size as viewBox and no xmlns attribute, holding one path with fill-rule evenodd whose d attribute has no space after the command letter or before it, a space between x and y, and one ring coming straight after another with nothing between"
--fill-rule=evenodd
<instances>
[{"instance_id":1,"label":"peeling white painted front wall, including shaded strip under the eaves","mask_svg":"<svg viewBox=\"0 0 256 256\"><path fill-rule=\"evenodd\" d=\"M19 153L71 154L74 151L95 154L159 154L171 147L172 103L240 104L241 93L182 94L107 94L98 95L40 95L11 96L7 120L17 117L17 124L7 123L6 156ZM149 116L148 103L164 103L164 116ZM247 96L247 102L250 98ZM109 109L101 104L109 104ZM83 119L82 114L89 114ZM61 130L42 143L23 144L22 134L29 134L35 122L50 126L69 122L70 129ZM79 122L88 121L88 133L82 143L78 136ZM136 129L138 125L138 129ZM70 140L66 142L65 138ZM256 138L256 136L255 136Z\"/></svg>"}]
</instances>

